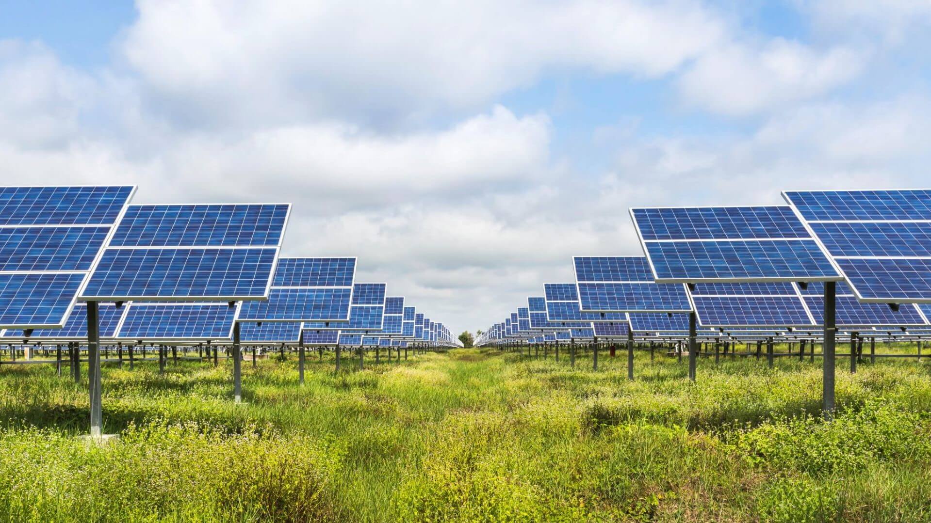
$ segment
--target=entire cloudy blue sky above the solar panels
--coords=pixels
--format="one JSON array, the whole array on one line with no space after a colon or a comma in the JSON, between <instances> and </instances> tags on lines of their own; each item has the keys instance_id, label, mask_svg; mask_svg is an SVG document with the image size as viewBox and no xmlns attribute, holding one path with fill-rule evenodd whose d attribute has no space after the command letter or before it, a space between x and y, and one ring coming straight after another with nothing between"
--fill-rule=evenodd
<instances>
[{"instance_id":1,"label":"entire cloudy blue sky above the solar panels","mask_svg":"<svg viewBox=\"0 0 931 523\"><path fill-rule=\"evenodd\" d=\"M3 184L293 203L454 332L628 208L931 186L927 0L0 0Z\"/></svg>"}]
</instances>

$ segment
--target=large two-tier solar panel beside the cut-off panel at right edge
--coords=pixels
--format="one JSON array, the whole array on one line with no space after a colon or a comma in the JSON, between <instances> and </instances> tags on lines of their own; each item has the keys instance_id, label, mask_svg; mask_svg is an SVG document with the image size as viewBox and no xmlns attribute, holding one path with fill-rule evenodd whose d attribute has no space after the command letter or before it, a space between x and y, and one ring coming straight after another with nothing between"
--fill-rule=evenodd
<instances>
[{"instance_id":1,"label":"large two-tier solar panel beside the cut-off panel at right edge","mask_svg":"<svg viewBox=\"0 0 931 523\"><path fill-rule=\"evenodd\" d=\"M787 206L631 208L655 281L841 279Z\"/></svg>"}]
</instances>

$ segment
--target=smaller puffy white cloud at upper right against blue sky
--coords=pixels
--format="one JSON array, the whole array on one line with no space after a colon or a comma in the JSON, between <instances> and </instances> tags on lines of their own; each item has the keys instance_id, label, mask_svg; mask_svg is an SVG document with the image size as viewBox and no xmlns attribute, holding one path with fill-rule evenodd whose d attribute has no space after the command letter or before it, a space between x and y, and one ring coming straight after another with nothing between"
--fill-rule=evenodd
<instances>
[{"instance_id":1,"label":"smaller puffy white cloud at upper right against blue sky","mask_svg":"<svg viewBox=\"0 0 931 523\"><path fill-rule=\"evenodd\" d=\"M824 52L776 38L762 45L732 44L703 54L679 79L685 100L721 114L769 113L824 94L854 78L862 53Z\"/></svg>"}]
</instances>

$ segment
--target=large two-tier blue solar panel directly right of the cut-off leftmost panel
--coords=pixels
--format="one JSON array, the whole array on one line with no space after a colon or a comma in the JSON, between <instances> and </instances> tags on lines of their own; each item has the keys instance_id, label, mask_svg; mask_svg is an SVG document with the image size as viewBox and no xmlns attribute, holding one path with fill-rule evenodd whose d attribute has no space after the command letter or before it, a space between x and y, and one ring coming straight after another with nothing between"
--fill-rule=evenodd
<instances>
[{"instance_id":1,"label":"large two-tier blue solar panel directly right of the cut-off leftmost panel","mask_svg":"<svg viewBox=\"0 0 931 523\"><path fill-rule=\"evenodd\" d=\"M130 206L86 301L263 300L289 205Z\"/></svg>"}]
</instances>

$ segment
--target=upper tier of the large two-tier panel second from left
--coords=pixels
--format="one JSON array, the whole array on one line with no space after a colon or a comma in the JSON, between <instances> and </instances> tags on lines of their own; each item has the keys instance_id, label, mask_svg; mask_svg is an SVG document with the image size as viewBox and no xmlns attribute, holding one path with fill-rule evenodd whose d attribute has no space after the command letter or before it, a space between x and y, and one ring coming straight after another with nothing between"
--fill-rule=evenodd
<instances>
[{"instance_id":1,"label":"upper tier of the large two-tier panel second from left","mask_svg":"<svg viewBox=\"0 0 931 523\"><path fill-rule=\"evenodd\" d=\"M129 206L111 247L277 247L289 205Z\"/></svg>"}]
</instances>

